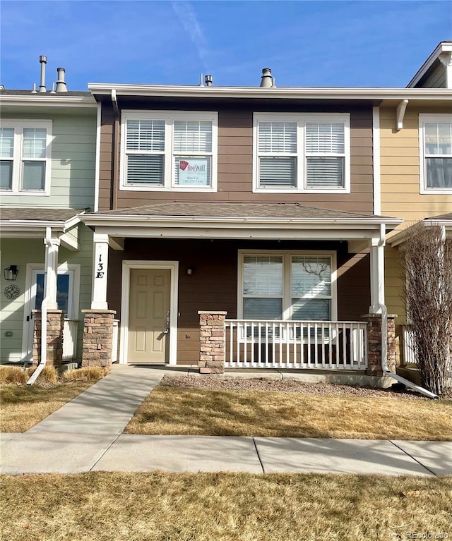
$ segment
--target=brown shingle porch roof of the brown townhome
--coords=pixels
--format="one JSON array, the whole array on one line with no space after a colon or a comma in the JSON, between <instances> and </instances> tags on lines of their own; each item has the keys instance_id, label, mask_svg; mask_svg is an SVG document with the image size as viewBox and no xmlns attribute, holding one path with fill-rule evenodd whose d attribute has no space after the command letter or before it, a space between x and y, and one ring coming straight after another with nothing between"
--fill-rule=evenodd
<instances>
[{"instance_id":1,"label":"brown shingle porch roof of the brown townhome","mask_svg":"<svg viewBox=\"0 0 452 541\"><path fill-rule=\"evenodd\" d=\"M121 216L183 216L183 217L225 217L225 218L307 218L362 219L375 217L374 214L345 212L343 210L307 207L299 203L194 203L164 202L143 207L109 210L96 214ZM89 214L88 214L89 217Z\"/></svg>"}]
</instances>

